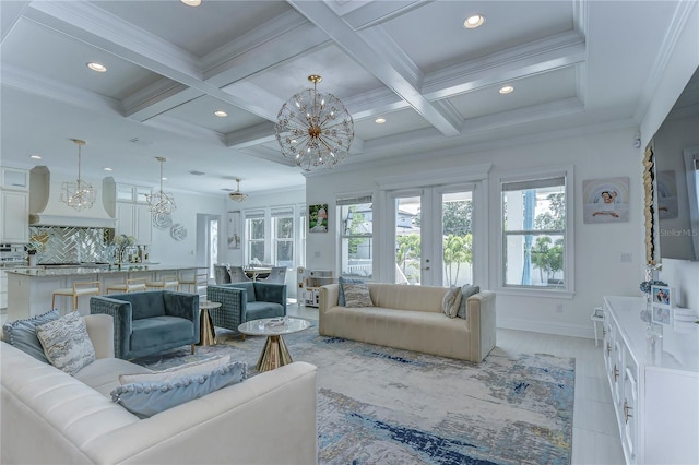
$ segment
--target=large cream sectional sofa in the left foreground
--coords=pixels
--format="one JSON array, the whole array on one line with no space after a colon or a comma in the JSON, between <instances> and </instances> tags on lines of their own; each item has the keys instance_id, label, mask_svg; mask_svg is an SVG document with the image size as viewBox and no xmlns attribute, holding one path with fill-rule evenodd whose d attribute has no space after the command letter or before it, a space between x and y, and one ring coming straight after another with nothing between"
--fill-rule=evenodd
<instances>
[{"instance_id":1,"label":"large cream sectional sofa in the left foreground","mask_svg":"<svg viewBox=\"0 0 699 465\"><path fill-rule=\"evenodd\" d=\"M123 373L111 317L85 317L93 363L71 377L0 343L3 464L309 464L316 367L295 362L139 419L107 397Z\"/></svg>"}]
</instances>

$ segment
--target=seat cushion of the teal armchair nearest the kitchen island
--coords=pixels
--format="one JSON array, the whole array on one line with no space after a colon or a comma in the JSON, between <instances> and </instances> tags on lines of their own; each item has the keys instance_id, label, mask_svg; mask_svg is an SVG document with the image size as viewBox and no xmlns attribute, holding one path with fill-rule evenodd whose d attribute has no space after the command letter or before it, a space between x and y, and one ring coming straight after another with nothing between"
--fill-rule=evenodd
<instances>
[{"instance_id":1,"label":"seat cushion of the teal armchair nearest the kitchen island","mask_svg":"<svg viewBox=\"0 0 699 465\"><path fill-rule=\"evenodd\" d=\"M189 344L194 323L179 317L153 317L134 320L130 354L153 354L158 347Z\"/></svg>"}]
</instances>

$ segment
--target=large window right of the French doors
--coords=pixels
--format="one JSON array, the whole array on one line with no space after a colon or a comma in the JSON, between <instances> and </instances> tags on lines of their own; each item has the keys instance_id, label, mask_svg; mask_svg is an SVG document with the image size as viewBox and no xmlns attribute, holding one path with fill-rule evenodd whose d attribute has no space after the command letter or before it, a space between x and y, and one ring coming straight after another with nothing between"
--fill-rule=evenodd
<instances>
[{"instance_id":1,"label":"large window right of the French doors","mask_svg":"<svg viewBox=\"0 0 699 465\"><path fill-rule=\"evenodd\" d=\"M569 289L566 177L502 182L502 284Z\"/></svg>"}]
</instances>

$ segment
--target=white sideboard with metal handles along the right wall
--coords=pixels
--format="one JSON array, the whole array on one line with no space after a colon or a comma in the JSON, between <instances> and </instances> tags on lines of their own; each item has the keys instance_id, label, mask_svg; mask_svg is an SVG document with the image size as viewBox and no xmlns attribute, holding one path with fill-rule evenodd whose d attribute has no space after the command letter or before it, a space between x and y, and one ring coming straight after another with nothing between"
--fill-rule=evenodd
<instances>
[{"instance_id":1,"label":"white sideboard with metal handles along the right wall","mask_svg":"<svg viewBox=\"0 0 699 465\"><path fill-rule=\"evenodd\" d=\"M699 463L699 325L605 297L604 362L628 464Z\"/></svg>"}]
</instances>

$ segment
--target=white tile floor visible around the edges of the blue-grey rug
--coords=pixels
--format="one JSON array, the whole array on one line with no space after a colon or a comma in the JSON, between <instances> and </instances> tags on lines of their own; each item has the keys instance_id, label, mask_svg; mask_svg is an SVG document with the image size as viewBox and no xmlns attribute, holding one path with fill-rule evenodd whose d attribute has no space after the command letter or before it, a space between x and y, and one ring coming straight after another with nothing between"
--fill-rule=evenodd
<instances>
[{"instance_id":1,"label":"white tile floor visible around the edges of the blue-grey rug","mask_svg":"<svg viewBox=\"0 0 699 465\"><path fill-rule=\"evenodd\" d=\"M288 306L288 314L318 319L318 309ZM593 339L498 330L497 345L511 353L550 354L576 359L572 465L624 464L602 348Z\"/></svg>"}]
</instances>

